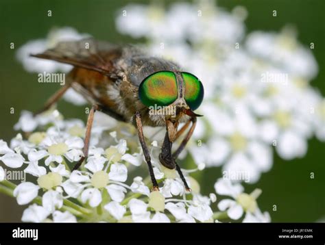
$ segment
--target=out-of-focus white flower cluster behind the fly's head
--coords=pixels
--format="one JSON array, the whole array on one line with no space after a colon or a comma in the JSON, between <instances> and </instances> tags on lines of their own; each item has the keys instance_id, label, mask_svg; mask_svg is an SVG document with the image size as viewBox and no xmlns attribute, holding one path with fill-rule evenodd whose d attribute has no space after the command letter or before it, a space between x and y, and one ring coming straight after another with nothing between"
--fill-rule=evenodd
<instances>
[{"instance_id":1,"label":"out-of-focus white flower cluster behind the fly's head","mask_svg":"<svg viewBox=\"0 0 325 245\"><path fill-rule=\"evenodd\" d=\"M202 81L197 113L204 117L194 133L202 144L187 147L195 163L255 183L272 168L272 147L289 160L303 157L314 135L325 140L325 99L309 85L317 75L313 44L303 47L290 27L245 36L246 15L243 7L229 13L213 1L168 10L132 4L118 13L117 29L146 38L145 49Z\"/></svg>"}]
</instances>

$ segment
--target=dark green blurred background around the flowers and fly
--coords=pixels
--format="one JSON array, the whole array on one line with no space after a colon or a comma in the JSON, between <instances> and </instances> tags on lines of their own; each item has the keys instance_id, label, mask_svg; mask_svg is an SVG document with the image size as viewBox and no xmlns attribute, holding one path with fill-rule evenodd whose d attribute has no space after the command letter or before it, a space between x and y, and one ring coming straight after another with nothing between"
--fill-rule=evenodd
<instances>
[{"instance_id":1,"label":"dark green blurred background around the flowers and fly","mask_svg":"<svg viewBox=\"0 0 325 245\"><path fill-rule=\"evenodd\" d=\"M35 110L59 88L56 83L47 83L46 88L37 82L37 75L27 73L15 59L16 49L25 42L45 38L51 27L74 27L80 33L88 33L101 40L116 43L139 42L122 36L115 30L117 10L132 1L104 0L0 0L0 138L9 141L16 135L12 129L22 109ZM135 2L135 1L133 1ZM163 1L166 5L173 1ZM148 1L136 1L148 3ZM247 31L257 29L280 31L290 23L298 30L298 39L306 46L315 43L313 53L320 66L320 73L311 85L325 95L325 1L323 0L222 0L218 5L232 10L243 5L248 10L245 21ZM52 16L47 16L47 10ZM277 10L277 17L272 11ZM10 49L14 42L15 49ZM10 114L10 107L15 113ZM58 105L64 116L83 118L84 109L65 101ZM310 178L311 172L315 179ZM213 192L219 168L204 170L200 178L202 192ZM255 185L246 185L250 193L261 188L263 194L258 198L262 210L269 211L273 222L315 222L325 220L325 144L315 139L309 141L309 150L303 159L283 161L274 159L271 171L262 175ZM277 210L273 211L273 205ZM0 194L0 222L18 222L23 207L13 198Z\"/></svg>"}]
</instances>

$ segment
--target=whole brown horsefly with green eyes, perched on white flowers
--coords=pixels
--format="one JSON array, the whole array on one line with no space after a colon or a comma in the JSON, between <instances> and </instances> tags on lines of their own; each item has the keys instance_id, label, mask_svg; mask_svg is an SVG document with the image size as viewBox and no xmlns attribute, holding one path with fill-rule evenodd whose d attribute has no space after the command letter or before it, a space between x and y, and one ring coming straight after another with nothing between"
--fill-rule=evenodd
<instances>
[{"instance_id":1,"label":"whole brown horsefly with green eyes, perched on white flowers","mask_svg":"<svg viewBox=\"0 0 325 245\"><path fill-rule=\"evenodd\" d=\"M165 126L167 130L159 156L160 162L167 168L176 168L186 189L189 190L176 164L176 158L191 138L196 117L200 116L193 112L200 106L204 95L202 83L197 77L181 72L179 66L173 62L150 57L134 47L119 47L93 39L60 42L53 49L32 56L74 66L68 75L66 86L56 92L38 113L56 103L70 87L82 94L93 105L87 120L84 157L88 155L91 126L96 110L117 120L132 123L138 129L153 188L158 190L143 136L143 125ZM175 113L150 111L157 107L160 112ZM191 128L184 140L176 152L171 153L173 142L186 131L191 122ZM185 123L180 130L179 123ZM74 169L79 168L83 160L84 158Z\"/></svg>"}]
</instances>

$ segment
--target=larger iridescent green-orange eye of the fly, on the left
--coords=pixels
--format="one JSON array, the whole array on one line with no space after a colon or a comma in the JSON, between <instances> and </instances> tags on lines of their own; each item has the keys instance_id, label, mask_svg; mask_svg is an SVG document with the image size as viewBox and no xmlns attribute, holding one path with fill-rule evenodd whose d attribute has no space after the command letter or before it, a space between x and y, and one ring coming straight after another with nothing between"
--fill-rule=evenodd
<instances>
[{"instance_id":1,"label":"larger iridescent green-orange eye of the fly, on the left","mask_svg":"<svg viewBox=\"0 0 325 245\"><path fill-rule=\"evenodd\" d=\"M178 97L176 76L171 71L149 75L139 86L139 98L143 105L170 105Z\"/></svg>"}]
</instances>

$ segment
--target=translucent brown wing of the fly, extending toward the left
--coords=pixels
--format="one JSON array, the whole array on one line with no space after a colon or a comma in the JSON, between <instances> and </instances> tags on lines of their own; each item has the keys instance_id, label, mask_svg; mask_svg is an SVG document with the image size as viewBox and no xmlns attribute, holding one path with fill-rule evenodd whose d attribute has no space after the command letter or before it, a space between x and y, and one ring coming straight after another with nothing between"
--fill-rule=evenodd
<instances>
[{"instance_id":1,"label":"translucent brown wing of the fly, extending toward the left","mask_svg":"<svg viewBox=\"0 0 325 245\"><path fill-rule=\"evenodd\" d=\"M119 47L109 42L86 38L79 41L59 42L44 53L31 54L46 60L55 60L88 70L95 70L108 77L112 74L112 63L107 59L110 53L119 53Z\"/></svg>"}]
</instances>

